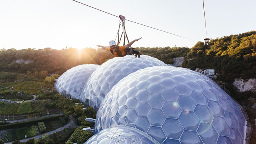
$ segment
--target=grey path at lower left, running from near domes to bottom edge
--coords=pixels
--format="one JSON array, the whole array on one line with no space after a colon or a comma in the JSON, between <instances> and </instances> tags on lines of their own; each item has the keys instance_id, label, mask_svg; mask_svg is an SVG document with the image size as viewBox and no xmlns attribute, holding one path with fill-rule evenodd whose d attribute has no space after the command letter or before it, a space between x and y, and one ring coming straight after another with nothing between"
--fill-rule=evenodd
<instances>
[{"instance_id":1,"label":"grey path at lower left, running from near domes to bottom edge","mask_svg":"<svg viewBox=\"0 0 256 144\"><path fill-rule=\"evenodd\" d=\"M70 121L68 122L68 124L64 125L63 127L60 127L59 129L55 129L53 131L49 131L47 134L51 135L53 133L56 133L57 131L62 131L63 129L68 128L68 127L77 128L78 126L77 126L77 124L75 124L75 118L73 118L72 115L69 115L69 118L70 118ZM30 140L32 138L33 139L41 138L43 134L37 135L35 137L29 137L29 138L26 138L26 139L22 139L22 140L20 140L20 142L26 142L26 141L28 141L28 140ZM11 144L11 143L12 142L7 142L7 143L4 143L4 144Z\"/></svg>"}]
</instances>

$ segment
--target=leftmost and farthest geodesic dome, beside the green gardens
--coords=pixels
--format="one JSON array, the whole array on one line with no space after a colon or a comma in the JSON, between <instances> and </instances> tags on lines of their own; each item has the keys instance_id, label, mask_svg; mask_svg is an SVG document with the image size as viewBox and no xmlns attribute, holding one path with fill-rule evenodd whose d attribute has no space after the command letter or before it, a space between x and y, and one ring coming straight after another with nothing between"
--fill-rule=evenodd
<instances>
[{"instance_id":1,"label":"leftmost and farthest geodesic dome, beside the green gardens","mask_svg":"<svg viewBox=\"0 0 256 144\"><path fill-rule=\"evenodd\" d=\"M69 95L71 98L76 98L82 101L80 95L84 84L98 67L99 65L86 64L77 65L67 70L55 82L55 89L60 94Z\"/></svg>"}]
</instances>

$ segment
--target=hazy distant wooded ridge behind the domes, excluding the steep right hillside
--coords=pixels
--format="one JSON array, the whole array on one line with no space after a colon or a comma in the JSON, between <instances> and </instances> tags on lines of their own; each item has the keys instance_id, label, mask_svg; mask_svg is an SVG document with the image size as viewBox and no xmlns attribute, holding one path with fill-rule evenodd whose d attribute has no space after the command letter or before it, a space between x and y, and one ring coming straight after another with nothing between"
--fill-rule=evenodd
<instances>
[{"instance_id":1,"label":"hazy distant wooded ridge behind the domes, excluding the steep right hillside","mask_svg":"<svg viewBox=\"0 0 256 144\"><path fill-rule=\"evenodd\" d=\"M165 63L173 63L173 57L184 57L189 48L136 48L143 55L150 55L162 60ZM54 50L51 48L44 49L2 49L0 50L0 71L18 72L27 74L39 74L47 71L48 73L62 74L66 70L81 64L98 64L101 65L114 56L101 48L98 50L93 48L68 48L62 50ZM17 60L27 61L28 64L18 63ZM30 75L30 74L28 74Z\"/></svg>"}]
</instances>

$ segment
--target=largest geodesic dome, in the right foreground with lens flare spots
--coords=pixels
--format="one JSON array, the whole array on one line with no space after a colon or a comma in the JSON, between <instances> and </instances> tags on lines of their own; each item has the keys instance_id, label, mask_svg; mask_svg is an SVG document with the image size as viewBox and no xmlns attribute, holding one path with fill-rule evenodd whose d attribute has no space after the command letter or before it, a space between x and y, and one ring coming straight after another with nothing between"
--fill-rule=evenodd
<instances>
[{"instance_id":1,"label":"largest geodesic dome, in the right foreground with lens flare spots","mask_svg":"<svg viewBox=\"0 0 256 144\"><path fill-rule=\"evenodd\" d=\"M129 74L108 92L95 133L125 126L159 143L242 144L246 122L238 104L207 76L154 66Z\"/></svg>"}]
</instances>

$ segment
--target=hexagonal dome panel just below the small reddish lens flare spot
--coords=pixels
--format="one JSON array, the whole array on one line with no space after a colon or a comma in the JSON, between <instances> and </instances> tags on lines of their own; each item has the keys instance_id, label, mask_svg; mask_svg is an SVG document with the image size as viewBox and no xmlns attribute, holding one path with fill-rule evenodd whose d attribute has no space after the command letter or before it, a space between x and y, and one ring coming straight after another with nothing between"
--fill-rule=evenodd
<instances>
[{"instance_id":1,"label":"hexagonal dome panel just below the small reddish lens flare spot","mask_svg":"<svg viewBox=\"0 0 256 144\"><path fill-rule=\"evenodd\" d=\"M184 129L191 131L196 131L200 123L200 120L193 111L181 111L178 119Z\"/></svg>"}]
</instances>

